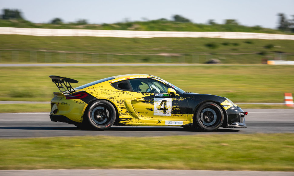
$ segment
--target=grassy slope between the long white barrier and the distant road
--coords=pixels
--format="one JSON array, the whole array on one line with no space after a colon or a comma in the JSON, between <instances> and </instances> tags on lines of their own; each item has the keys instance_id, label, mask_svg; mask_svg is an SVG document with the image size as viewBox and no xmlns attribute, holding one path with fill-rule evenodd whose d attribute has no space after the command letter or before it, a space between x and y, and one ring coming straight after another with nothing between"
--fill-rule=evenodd
<instances>
[{"instance_id":1,"label":"grassy slope between the long white barrier and the distant road","mask_svg":"<svg viewBox=\"0 0 294 176\"><path fill-rule=\"evenodd\" d=\"M0 35L0 63L221 63L294 60L293 40Z\"/></svg>"}]
</instances>

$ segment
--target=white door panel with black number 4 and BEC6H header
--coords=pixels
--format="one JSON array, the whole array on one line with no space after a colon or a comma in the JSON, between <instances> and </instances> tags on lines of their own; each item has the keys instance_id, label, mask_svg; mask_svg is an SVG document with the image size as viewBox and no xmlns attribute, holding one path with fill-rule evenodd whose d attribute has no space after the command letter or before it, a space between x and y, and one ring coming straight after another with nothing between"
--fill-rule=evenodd
<instances>
[{"instance_id":1,"label":"white door panel with black number 4 and BEC6H header","mask_svg":"<svg viewBox=\"0 0 294 176\"><path fill-rule=\"evenodd\" d=\"M168 93L154 93L154 115L171 116L172 98Z\"/></svg>"}]
</instances>

